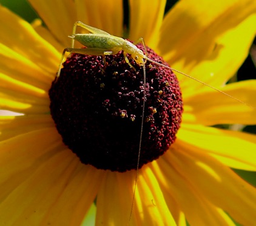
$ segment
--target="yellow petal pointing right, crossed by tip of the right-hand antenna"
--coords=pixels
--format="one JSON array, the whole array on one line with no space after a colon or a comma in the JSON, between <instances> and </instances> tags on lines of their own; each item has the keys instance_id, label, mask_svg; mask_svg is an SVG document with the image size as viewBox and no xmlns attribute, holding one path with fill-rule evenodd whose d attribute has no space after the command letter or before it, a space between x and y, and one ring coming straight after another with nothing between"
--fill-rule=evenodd
<instances>
[{"instance_id":1,"label":"yellow petal pointing right, crossed by tip of the right-hand antenna","mask_svg":"<svg viewBox=\"0 0 256 226\"><path fill-rule=\"evenodd\" d=\"M256 80L231 83L220 90L244 104L215 90L200 92L184 97L184 112L194 115L194 118L185 116L183 122L204 125L256 124Z\"/></svg>"}]
</instances>

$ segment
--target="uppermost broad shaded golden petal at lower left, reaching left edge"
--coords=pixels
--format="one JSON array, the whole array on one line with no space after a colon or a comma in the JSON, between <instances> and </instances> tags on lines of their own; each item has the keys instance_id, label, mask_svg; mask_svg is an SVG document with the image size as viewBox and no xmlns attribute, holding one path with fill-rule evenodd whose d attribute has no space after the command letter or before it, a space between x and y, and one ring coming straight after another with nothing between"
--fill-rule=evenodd
<instances>
[{"instance_id":1,"label":"uppermost broad shaded golden petal at lower left, reaching left edge","mask_svg":"<svg viewBox=\"0 0 256 226\"><path fill-rule=\"evenodd\" d=\"M24 181L29 173L33 172L36 162L40 163L40 160L46 160L53 153L58 153L63 149L63 144L56 130L47 128L1 141L0 147L1 169L5 171L1 173L0 181L1 183L9 181L4 187L1 186L0 200L2 200L7 193L12 192L19 183Z\"/></svg>"}]
</instances>

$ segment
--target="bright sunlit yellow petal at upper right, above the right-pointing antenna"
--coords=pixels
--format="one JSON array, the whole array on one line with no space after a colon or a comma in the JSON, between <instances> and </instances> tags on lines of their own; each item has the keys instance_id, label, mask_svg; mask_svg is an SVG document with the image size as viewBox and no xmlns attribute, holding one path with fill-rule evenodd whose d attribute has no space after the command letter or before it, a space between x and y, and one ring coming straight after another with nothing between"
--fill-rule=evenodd
<instances>
[{"instance_id":1,"label":"bright sunlit yellow petal at upper right, above the right-pointing antenna","mask_svg":"<svg viewBox=\"0 0 256 226\"><path fill-rule=\"evenodd\" d=\"M229 32L218 37L217 46L212 55L194 65L189 74L203 79L204 82L215 86L215 88L224 86L248 56L255 37L256 31L252 29L255 24L256 15L252 15ZM243 35L241 36L241 34ZM200 83L195 84L196 87L191 87L190 81L186 79L186 82L183 84L186 92L207 89Z\"/></svg>"}]
</instances>

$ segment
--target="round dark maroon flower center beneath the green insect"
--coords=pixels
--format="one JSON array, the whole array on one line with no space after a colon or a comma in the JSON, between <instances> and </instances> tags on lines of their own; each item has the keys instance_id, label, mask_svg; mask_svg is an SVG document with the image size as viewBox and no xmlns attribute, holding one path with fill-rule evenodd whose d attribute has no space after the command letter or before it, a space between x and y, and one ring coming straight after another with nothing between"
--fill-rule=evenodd
<instances>
[{"instance_id":1,"label":"round dark maroon flower center beneath the green insect","mask_svg":"<svg viewBox=\"0 0 256 226\"><path fill-rule=\"evenodd\" d=\"M167 65L150 48L147 52ZM82 163L98 169L137 168L143 114L139 168L163 155L180 128L183 103L175 74L147 61L144 96L143 67L127 57L136 71L121 51L106 56L106 63L102 56L72 54L49 91L50 111L63 142Z\"/></svg>"}]
</instances>

